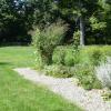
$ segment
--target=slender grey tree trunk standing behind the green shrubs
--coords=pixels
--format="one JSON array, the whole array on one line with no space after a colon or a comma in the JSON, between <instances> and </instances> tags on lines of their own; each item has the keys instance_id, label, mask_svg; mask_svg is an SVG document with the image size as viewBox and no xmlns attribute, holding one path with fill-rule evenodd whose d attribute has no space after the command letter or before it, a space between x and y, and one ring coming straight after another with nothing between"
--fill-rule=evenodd
<instances>
[{"instance_id":1,"label":"slender grey tree trunk standing behind the green shrubs","mask_svg":"<svg viewBox=\"0 0 111 111\"><path fill-rule=\"evenodd\" d=\"M84 21L82 17L80 17L80 46L84 46Z\"/></svg>"}]
</instances>

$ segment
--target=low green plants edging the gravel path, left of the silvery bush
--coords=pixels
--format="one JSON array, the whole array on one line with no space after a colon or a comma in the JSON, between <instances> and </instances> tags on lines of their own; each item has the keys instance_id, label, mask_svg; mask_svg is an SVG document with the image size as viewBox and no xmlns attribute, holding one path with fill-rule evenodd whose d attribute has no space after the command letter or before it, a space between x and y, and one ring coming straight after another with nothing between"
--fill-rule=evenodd
<instances>
[{"instance_id":1,"label":"low green plants edging the gravel path, left of the silvery bush","mask_svg":"<svg viewBox=\"0 0 111 111\"><path fill-rule=\"evenodd\" d=\"M101 89L102 84L98 80L94 68L88 65L65 67L65 65L46 65L44 70L47 75L57 78L71 78L75 77L80 85L85 90Z\"/></svg>"}]
</instances>

